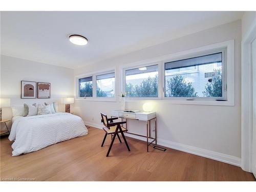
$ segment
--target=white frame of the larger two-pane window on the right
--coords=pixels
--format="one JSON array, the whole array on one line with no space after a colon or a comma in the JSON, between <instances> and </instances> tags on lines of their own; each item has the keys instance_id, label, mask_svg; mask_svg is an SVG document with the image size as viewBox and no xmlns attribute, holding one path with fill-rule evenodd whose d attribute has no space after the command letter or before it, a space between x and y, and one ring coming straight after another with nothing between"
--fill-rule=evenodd
<instances>
[{"instance_id":1,"label":"white frame of the larger two-pane window on the right","mask_svg":"<svg viewBox=\"0 0 256 192\"><path fill-rule=\"evenodd\" d=\"M224 57L223 64L222 63L222 75L224 76L225 83L223 83L223 89L227 90L223 92L225 94L224 101L217 101L215 97L200 97L193 100L187 100L187 97L179 98L179 97L165 97L164 95L164 87L165 87L165 69L164 63L172 60L180 60L181 58L191 58L195 57L195 55L203 55L212 51L225 49L225 54L222 55ZM191 104L191 105L220 105L220 106L234 106L234 40L227 40L223 42L218 42L216 44L211 44L207 46L202 46L198 48L188 49L185 51L172 53L168 55L163 55L151 59L141 60L133 63L129 63L125 66L120 67L120 73L122 74L122 83L121 83L121 91L125 91L125 70L127 69L136 69L140 67L146 67L154 65L154 63L158 63L158 98L142 98L142 97L126 97L126 102L140 102L140 101L157 101L157 102L165 102L168 104Z\"/></svg>"}]
</instances>

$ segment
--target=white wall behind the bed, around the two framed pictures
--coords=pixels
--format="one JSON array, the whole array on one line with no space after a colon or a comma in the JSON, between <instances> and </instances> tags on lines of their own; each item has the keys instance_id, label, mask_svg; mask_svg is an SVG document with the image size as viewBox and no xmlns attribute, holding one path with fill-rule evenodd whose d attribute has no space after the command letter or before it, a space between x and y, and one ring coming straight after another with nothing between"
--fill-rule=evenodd
<instances>
[{"instance_id":1,"label":"white wall behind the bed, around the two framed pictures","mask_svg":"<svg viewBox=\"0 0 256 192\"><path fill-rule=\"evenodd\" d=\"M74 70L69 68L1 55L0 96L11 98L11 104L57 101L59 110L65 111L64 104L60 104L60 98L74 96L73 72ZM50 82L51 98L20 99L21 80ZM3 118L11 117L11 108L3 108Z\"/></svg>"}]
</instances>

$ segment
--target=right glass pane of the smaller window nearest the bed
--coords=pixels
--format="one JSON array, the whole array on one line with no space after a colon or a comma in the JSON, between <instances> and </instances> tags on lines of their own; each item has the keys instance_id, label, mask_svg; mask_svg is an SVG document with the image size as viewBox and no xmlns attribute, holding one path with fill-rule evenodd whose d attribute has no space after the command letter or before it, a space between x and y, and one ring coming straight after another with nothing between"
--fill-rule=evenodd
<instances>
[{"instance_id":1,"label":"right glass pane of the smaller window nearest the bed","mask_svg":"<svg viewBox=\"0 0 256 192\"><path fill-rule=\"evenodd\" d=\"M97 75L97 97L115 97L115 73Z\"/></svg>"}]
</instances>

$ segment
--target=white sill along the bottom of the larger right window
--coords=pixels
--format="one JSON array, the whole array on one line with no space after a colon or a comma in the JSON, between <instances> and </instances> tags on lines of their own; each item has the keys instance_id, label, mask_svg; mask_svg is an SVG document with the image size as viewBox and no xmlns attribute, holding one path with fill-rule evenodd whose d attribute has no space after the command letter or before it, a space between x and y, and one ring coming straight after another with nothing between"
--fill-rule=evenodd
<instances>
[{"instance_id":1,"label":"white sill along the bottom of the larger right window","mask_svg":"<svg viewBox=\"0 0 256 192\"><path fill-rule=\"evenodd\" d=\"M233 101L216 101L216 100L178 100L178 99L125 99L125 102L162 102L165 104L187 104L187 105L217 105L217 106L234 106Z\"/></svg>"}]
</instances>

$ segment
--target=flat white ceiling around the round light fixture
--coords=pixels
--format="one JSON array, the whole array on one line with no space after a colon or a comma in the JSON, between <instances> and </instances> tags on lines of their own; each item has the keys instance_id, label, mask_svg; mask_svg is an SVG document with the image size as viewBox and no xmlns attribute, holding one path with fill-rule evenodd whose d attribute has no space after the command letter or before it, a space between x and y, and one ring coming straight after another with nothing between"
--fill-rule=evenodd
<instances>
[{"instance_id":1,"label":"flat white ceiling around the round light fixture","mask_svg":"<svg viewBox=\"0 0 256 192\"><path fill-rule=\"evenodd\" d=\"M1 12L1 54L78 68L238 20L243 12ZM86 46L68 36L81 34Z\"/></svg>"}]
</instances>

